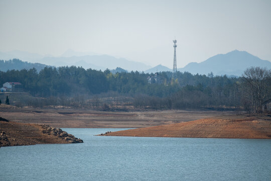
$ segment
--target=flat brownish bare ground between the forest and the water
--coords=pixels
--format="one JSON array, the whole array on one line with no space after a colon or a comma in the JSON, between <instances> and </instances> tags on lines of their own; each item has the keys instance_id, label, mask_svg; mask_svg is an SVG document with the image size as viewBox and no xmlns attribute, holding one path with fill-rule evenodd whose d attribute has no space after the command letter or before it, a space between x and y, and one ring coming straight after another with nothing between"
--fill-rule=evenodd
<instances>
[{"instance_id":1,"label":"flat brownish bare ground between the forest and the water","mask_svg":"<svg viewBox=\"0 0 271 181\"><path fill-rule=\"evenodd\" d=\"M47 124L58 128L143 128L236 115L218 111L104 112L87 109L32 109L0 105L0 116L19 123Z\"/></svg>"}]
</instances>

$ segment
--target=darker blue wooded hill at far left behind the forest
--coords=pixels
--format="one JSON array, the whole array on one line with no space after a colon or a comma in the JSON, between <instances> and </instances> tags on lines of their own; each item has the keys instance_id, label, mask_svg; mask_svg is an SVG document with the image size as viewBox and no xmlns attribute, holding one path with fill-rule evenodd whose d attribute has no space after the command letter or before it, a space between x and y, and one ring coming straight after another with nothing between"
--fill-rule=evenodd
<instances>
[{"instance_id":1,"label":"darker blue wooded hill at far left behind the forest","mask_svg":"<svg viewBox=\"0 0 271 181\"><path fill-rule=\"evenodd\" d=\"M0 60L0 71L7 71L7 70L22 70L22 69L31 69L36 68L39 72L41 69L46 67L47 65L41 63L29 63L24 62L19 59L12 59L12 60Z\"/></svg>"}]
</instances>

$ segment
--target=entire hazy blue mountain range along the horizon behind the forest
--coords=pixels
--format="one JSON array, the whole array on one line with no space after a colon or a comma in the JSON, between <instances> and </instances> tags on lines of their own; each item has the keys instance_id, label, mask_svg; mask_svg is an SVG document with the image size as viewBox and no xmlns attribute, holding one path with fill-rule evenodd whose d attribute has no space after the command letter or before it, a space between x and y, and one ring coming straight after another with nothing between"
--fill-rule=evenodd
<instances>
[{"instance_id":1,"label":"entire hazy blue mountain range along the horizon behind the forest","mask_svg":"<svg viewBox=\"0 0 271 181\"><path fill-rule=\"evenodd\" d=\"M23 51L10 51L5 53L0 52L0 60L10 60L13 58L39 63L22 63L17 61L14 63L13 61L6 61L6 64L4 65L5 61L2 61L0 70L20 70L23 68L29 69L35 67L39 71L46 66L45 64L47 64L56 67L75 65L82 66L85 69L92 68L97 70L105 70L108 68L111 69L111 72L138 70L146 73L155 73L157 71L172 71L172 69L161 64L151 68L151 66L141 62L129 61L124 58L115 58L109 55L98 55L92 52L75 52L73 50L67 50L60 57L42 56ZM208 73L213 72L214 75L226 74L240 76L246 68L251 66L266 67L271 69L271 62L262 60L247 53L246 51L234 50L226 54L215 55L200 63L189 63L185 67L179 68L178 70L181 72L187 71L192 74L199 73L207 75Z\"/></svg>"}]
</instances>

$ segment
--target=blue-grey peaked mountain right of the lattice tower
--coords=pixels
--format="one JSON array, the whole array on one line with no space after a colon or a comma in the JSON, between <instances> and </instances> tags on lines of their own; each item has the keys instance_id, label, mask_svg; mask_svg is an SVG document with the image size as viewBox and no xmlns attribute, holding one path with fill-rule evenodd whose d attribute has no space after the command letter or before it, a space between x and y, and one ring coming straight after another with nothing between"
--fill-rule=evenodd
<instances>
[{"instance_id":1,"label":"blue-grey peaked mountain right of the lattice tower","mask_svg":"<svg viewBox=\"0 0 271 181\"><path fill-rule=\"evenodd\" d=\"M192 74L199 73L207 75L213 72L214 75L241 76L242 72L251 66L271 69L271 62L262 60L246 51L234 50L226 54L215 55L200 63L189 63L178 70L181 72L188 71Z\"/></svg>"}]
</instances>

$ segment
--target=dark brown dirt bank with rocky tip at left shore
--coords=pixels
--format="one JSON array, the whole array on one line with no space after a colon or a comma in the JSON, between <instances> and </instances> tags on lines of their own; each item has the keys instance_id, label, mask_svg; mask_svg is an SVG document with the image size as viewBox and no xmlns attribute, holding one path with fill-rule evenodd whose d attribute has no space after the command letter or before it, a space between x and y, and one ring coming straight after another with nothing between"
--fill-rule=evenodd
<instances>
[{"instance_id":1,"label":"dark brown dirt bank with rocky tip at left shore","mask_svg":"<svg viewBox=\"0 0 271 181\"><path fill-rule=\"evenodd\" d=\"M0 147L53 143L82 143L61 129L48 125L11 122L0 118Z\"/></svg>"}]
</instances>

